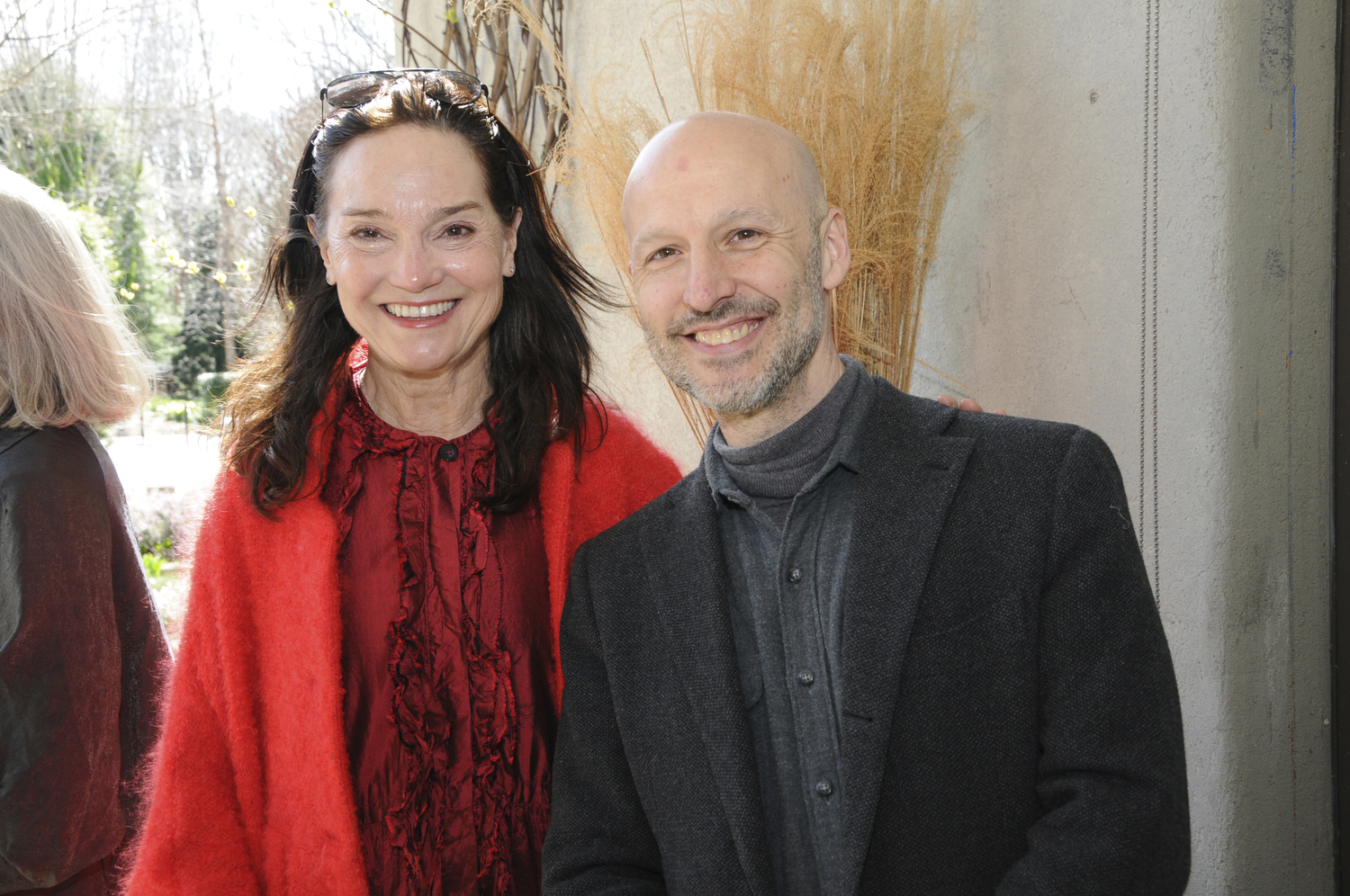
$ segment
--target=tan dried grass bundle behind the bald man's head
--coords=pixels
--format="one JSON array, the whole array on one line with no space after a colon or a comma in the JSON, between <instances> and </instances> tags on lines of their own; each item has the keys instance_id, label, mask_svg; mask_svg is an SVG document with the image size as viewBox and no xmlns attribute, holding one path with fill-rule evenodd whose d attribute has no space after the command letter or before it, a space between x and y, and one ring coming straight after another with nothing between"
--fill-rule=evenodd
<instances>
[{"instance_id":1,"label":"tan dried grass bundle behind the bald man's head","mask_svg":"<svg viewBox=\"0 0 1350 896\"><path fill-rule=\"evenodd\" d=\"M923 279L961 147L965 0L729 0L679 4L657 26L688 69L699 109L745 112L801 136L849 224L853 267L834 294L840 349L907 389ZM651 55L648 43L644 53ZM662 85L657 85L660 90ZM624 182L666 121L613 90L572 99L562 166L595 219L620 281ZM666 105L664 97L662 105ZM668 111L666 112L670 119ZM676 390L697 435L709 414Z\"/></svg>"}]
</instances>

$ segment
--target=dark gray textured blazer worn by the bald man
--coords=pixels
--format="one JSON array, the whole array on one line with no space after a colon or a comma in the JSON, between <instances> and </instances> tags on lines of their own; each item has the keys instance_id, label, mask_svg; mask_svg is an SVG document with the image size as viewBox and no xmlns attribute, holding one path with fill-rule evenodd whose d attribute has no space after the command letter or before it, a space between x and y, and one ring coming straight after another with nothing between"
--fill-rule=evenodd
<instances>
[{"instance_id":1,"label":"dark gray textured blazer worn by the bald man","mask_svg":"<svg viewBox=\"0 0 1350 896\"><path fill-rule=\"evenodd\" d=\"M774 889L702 470L585 544L544 892ZM844 617L859 893L1181 893L1166 640L1106 444L879 382Z\"/></svg>"}]
</instances>

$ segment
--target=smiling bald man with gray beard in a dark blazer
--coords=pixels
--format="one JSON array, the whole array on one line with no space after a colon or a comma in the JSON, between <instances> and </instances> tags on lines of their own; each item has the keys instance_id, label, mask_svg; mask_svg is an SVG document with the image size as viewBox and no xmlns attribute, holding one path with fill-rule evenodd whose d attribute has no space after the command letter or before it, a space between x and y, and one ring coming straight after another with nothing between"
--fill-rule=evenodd
<instances>
[{"instance_id":1,"label":"smiling bald man with gray beard in a dark blazer","mask_svg":"<svg viewBox=\"0 0 1350 896\"><path fill-rule=\"evenodd\" d=\"M841 356L806 146L682 119L624 197L703 461L576 553L545 893L1181 893L1176 680L1111 452Z\"/></svg>"}]
</instances>

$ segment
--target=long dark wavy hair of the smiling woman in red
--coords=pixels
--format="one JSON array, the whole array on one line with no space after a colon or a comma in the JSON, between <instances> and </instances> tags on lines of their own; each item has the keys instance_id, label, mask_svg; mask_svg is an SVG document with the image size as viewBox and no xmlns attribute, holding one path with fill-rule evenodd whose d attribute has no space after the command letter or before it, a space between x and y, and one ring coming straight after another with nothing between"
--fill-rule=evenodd
<instances>
[{"instance_id":1,"label":"long dark wavy hair of the smiling woman in red","mask_svg":"<svg viewBox=\"0 0 1350 896\"><path fill-rule=\"evenodd\" d=\"M505 278L501 312L489 328L483 420L497 474L493 493L481 498L483 506L510 513L528 503L549 441L571 436L580 452L583 440L603 435L583 433L586 403L594 398L582 317L587 305L613 302L567 247L540 170L481 103L437 100L418 78L400 77L370 101L329 115L310 135L296 171L288 228L267 262L259 297L281 305L285 331L231 386L223 416L228 463L252 486L254 505L265 514L301 497L312 460L310 426L359 339L343 316L338 289L325 279L309 217L323 219L325 177L343 147L402 124L462 136L482 166L501 221L521 211L516 274Z\"/></svg>"}]
</instances>

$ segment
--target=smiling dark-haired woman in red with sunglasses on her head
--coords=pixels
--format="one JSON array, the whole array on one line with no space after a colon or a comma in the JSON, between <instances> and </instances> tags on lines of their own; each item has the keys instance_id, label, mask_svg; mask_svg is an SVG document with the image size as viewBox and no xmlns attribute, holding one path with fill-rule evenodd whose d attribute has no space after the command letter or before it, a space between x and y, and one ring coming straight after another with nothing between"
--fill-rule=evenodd
<instances>
[{"instance_id":1,"label":"smiling dark-haired woman in red with sunglasses on her head","mask_svg":"<svg viewBox=\"0 0 1350 896\"><path fill-rule=\"evenodd\" d=\"M678 472L591 395L603 298L481 85L325 94L130 889L537 893L572 553Z\"/></svg>"}]
</instances>

